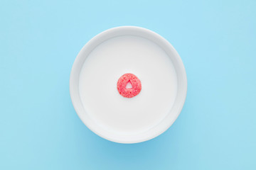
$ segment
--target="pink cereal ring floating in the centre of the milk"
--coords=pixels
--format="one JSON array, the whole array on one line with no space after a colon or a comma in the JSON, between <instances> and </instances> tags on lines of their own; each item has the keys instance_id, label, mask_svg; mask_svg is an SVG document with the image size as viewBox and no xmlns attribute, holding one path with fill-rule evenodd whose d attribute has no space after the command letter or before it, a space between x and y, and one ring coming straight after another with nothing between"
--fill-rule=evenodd
<instances>
[{"instance_id":1,"label":"pink cereal ring floating in the centre of the milk","mask_svg":"<svg viewBox=\"0 0 256 170\"><path fill-rule=\"evenodd\" d=\"M127 89L127 83L131 83L132 88ZM142 90L142 83L134 74L127 73L118 79L117 90L122 96L132 98L137 96Z\"/></svg>"}]
</instances>

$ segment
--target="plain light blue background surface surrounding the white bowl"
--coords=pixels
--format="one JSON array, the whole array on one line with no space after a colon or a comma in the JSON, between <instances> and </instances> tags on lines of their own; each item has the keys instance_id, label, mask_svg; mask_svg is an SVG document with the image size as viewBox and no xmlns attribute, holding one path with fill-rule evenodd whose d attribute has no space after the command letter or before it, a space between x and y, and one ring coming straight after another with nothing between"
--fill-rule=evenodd
<instances>
[{"instance_id":1,"label":"plain light blue background surface surrounding the white bowl","mask_svg":"<svg viewBox=\"0 0 256 170\"><path fill-rule=\"evenodd\" d=\"M141 26L181 55L174 125L122 145L76 115L70 70L85 43ZM256 169L256 1L0 1L0 169Z\"/></svg>"}]
</instances>

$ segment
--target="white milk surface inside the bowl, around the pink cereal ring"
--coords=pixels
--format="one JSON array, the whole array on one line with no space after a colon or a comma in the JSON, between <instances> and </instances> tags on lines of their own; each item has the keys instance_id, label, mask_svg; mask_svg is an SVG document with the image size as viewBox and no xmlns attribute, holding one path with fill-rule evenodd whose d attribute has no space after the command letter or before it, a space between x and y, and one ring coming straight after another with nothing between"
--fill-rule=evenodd
<instances>
[{"instance_id":1,"label":"white milk surface inside the bowl, around the pink cereal ring","mask_svg":"<svg viewBox=\"0 0 256 170\"><path fill-rule=\"evenodd\" d=\"M117 81L132 73L142 91L124 98ZM90 118L106 130L133 135L149 130L169 113L177 91L171 59L154 42L133 35L112 38L98 45L80 72L80 98Z\"/></svg>"}]
</instances>

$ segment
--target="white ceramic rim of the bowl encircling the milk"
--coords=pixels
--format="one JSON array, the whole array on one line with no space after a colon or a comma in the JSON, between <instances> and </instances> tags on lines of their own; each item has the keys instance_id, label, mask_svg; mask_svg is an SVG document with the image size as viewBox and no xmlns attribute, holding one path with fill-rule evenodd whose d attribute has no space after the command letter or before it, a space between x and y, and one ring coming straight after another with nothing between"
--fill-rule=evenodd
<instances>
[{"instance_id":1,"label":"white ceramic rim of the bowl encircling the milk","mask_svg":"<svg viewBox=\"0 0 256 170\"><path fill-rule=\"evenodd\" d=\"M85 62L85 59L90 52L100 45L102 42L109 40L110 38L114 38L116 36L121 35L137 35L146 39L149 39L153 42L156 42L169 57L171 57L171 61L174 64L174 68L177 74L177 95L176 100L174 101L174 106L169 111L168 115L161 120L159 124L154 126L153 128L149 129L146 132L139 133L136 135L116 135L112 132L109 132L103 128L101 128L97 123L94 122L90 118L89 115L86 114L85 108L82 106L82 101L80 100L79 94L79 76L80 70L82 69L82 65ZM78 53L77 57L75 58L75 62L73 63L73 67L70 72L70 98L75 108L76 113L78 114L80 120L95 132L95 134L99 135L100 137L105 138L106 140L110 140L112 142L118 143L138 143L144 142L146 140L151 140L154 137L161 135L167 129L171 127L174 121L178 118L178 115L181 113L183 105L186 101L186 94L187 94L187 78L186 78L186 70L183 66L183 62L181 57L178 55L178 52L174 49L169 41L161 37L161 35L148 30L146 28L141 28L137 26L119 26L116 28L110 28L108 30L103 31L102 33L95 35L94 38L89 40L82 50ZM172 116L170 116L172 115Z\"/></svg>"}]
</instances>

